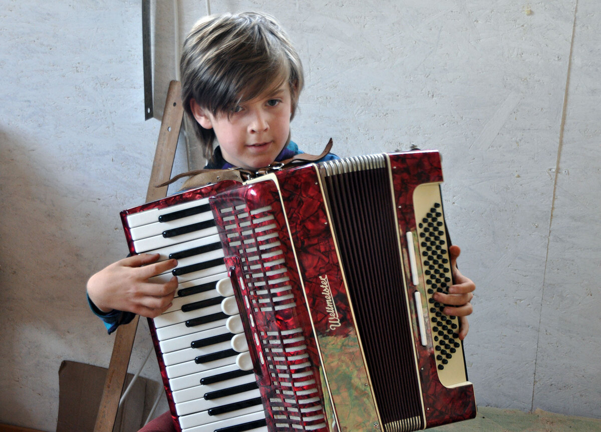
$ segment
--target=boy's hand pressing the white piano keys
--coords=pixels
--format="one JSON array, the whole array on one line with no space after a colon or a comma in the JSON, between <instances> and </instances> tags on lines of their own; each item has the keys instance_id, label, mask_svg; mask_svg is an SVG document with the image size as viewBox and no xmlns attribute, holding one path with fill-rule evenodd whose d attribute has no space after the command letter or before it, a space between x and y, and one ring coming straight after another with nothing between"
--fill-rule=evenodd
<instances>
[{"instance_id":1,"label":"boy's hand pressing the white piano keys","mask_svg":"<svg viewBox=\"0 0 601 432\"><path fill-rule=\"evenodd\" d=\"M103 312L114 309L154 318L171 306L177 289L177 277L167 283L149 278L177 265L174 259L155 262L159 254L139 254L119 260L88 280L88 295Z\"/></svg>"}]
</instances>

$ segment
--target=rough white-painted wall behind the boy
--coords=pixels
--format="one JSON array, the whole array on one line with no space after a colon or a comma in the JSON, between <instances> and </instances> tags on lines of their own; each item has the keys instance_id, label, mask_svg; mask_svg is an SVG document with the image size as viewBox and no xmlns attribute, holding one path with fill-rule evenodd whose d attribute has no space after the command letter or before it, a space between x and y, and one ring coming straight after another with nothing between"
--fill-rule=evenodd
<instances>
[{"instance_id":1,"label":"rough white-painted wall behind the boy","mask_svg":"<svg viewBox=\"0 0 601 432\"><path fill-rule=\"evenodd\" d=\"M181 3L183 37L204 2ZM171 5L156 8L159 112ZM341 156L442 152L477 283L478 403L601 418L601 5L212 2L239 10L272 13L301 52L305 151L333 137ZM0 29L0 422L51 431L60 362L108 365L85 281L126 254L118 212L145 196L159 122L144 121L139 2L0 0ZM132 370L150 348L140 327Z\"/></svg>"}]
</instances>

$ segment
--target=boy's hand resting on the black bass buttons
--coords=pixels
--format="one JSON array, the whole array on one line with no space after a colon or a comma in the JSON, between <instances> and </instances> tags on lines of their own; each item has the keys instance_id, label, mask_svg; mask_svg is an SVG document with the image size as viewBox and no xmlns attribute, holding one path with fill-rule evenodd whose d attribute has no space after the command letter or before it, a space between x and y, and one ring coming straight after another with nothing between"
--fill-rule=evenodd
<instances>
[{"instance_id":1,"label":"boy's hand resting on the black bass buttons","mask_svg":"<svg viewBox=\"0 0 601 432\"><path fill-rule=\"evenodd\" d=\"M457 257L461 250L459 246L451 246L449 255L451 257L451 271L453 272L454 285L448 289L448 294L435 293L433 297L439 303L447 305L444 314L459 317L459 338L463 340L468 334L469 323L467 316L472 313L474 307L470 303L474 298L475 284L457 269Z\"/></svg>"}]
</instances>

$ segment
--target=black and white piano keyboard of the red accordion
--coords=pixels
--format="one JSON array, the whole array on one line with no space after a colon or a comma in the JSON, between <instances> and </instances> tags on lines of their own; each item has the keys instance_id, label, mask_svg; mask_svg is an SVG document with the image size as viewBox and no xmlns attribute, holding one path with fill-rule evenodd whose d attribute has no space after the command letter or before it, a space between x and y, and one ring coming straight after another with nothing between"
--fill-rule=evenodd
<instances>
[{"instance_id":1,"label":"black and white piano keyboard of the red accordion","mask_svg":"<svg viewBox=\"0 0 601 432\"><path fill-rule=\"evenodd\" d=\"M266 421L248 347L233 347L240 316L224 313L216 285L227 278L224 253L208 200L201 199L127 216L136 253L175 258L173 305L149 320L172 414L183 432L265 432ZM236 311L237 312L237 311ZM175 411L175 413L174 413Z\"/></svg>"}]
</instances>

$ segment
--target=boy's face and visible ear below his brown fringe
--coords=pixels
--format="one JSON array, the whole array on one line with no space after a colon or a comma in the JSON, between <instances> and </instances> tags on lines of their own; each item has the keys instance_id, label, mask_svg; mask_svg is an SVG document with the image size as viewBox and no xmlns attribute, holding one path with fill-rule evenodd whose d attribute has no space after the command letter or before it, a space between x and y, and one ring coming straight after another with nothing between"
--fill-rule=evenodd
<instances>
[{"instance_id":1,"label":"boy's face and visible ear below his brown fringe","mask_svg":"<svg viewBox=\"0 0 601 432\"><path fill-rule=\"evenodd\" d=\"M195 100L190 106L198 123L215 131L223 157L234 166L266 167L288 140L292 106L287 83L243 103L229 115L213 115Z\"/></svg>"}]
</instances>

